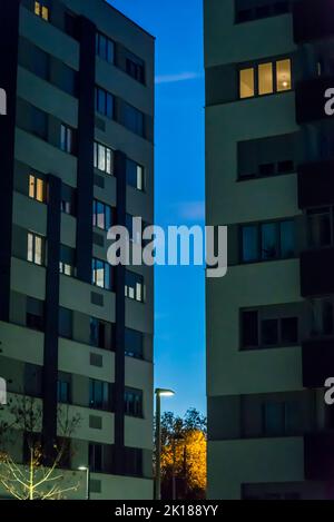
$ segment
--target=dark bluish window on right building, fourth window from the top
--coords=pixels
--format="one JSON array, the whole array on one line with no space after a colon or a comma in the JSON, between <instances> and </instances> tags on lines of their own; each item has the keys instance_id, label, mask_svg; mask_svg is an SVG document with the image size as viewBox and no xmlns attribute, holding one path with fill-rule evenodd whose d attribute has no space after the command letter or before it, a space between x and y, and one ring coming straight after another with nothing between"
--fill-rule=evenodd
<instances>
[{"instance_id":1,"label":"dark bluish window on right building, fourth window from the top","mask_svg":"<svg viewBox=\"0 0 334 522\"><path fill-rule=\"evenodd\" d=\"M287 259L294 255L294 220L242 227L242 263Z\"/></svg>"}]
</instances>

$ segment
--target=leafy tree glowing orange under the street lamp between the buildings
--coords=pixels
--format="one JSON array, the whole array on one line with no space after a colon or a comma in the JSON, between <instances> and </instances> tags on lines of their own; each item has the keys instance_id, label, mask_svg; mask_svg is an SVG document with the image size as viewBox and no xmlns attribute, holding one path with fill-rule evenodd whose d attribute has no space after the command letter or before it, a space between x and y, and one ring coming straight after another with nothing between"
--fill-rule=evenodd
<instances>
[{"instance_id":1,"label":"leafy tree glowing orange under the street lamp between the buildings","mask_svg":"<svg viewBox=\"0 0 334 522\"><path fill-rule=\"evenodd\" d=\"M161 492L165 499L204 499L206 491L206 418L189 410L185 418L161 420Z\"/></svg>"}]
</instances>

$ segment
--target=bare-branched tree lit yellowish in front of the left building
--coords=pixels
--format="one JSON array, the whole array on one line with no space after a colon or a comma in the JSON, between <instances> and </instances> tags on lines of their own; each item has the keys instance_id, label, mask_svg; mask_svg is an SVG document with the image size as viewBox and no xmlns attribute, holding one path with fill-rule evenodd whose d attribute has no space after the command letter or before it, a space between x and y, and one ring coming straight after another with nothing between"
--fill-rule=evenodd
<instances>
[{"instance_id":1,"label":"bare-branched tree lit yellowish in front of the left building","mask_svg":"<svg viewBox=\"0 0 334 522\"><path fill-rule=\"evenodd\" d=\"M69 461L69 440L80 423L69 417L68 408L58 408L59 436L43 441L40 435L42 406L32 397L20 397L9 406L9 422L0 424L0 484L17 500L60 500L79 484L70 484L61 467ZM24 462L20 465L10 452L17 434L23 434Z\"/></svg>"}]
</instances>

